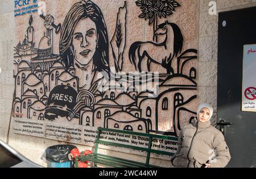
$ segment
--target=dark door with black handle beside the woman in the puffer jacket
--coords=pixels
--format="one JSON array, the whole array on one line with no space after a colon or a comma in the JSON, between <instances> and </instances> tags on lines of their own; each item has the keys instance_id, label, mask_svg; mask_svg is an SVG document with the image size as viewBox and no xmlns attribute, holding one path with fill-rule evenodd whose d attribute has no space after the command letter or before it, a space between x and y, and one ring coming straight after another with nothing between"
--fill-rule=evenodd
<instances>
[{"instance_id":1,"label":"dark door with black handle beside the woman in the puffer jacket","mask_svg":"<svg viewBox=\"0 0 256 179\"><path fill-rule=\"evenodd\" d=\"M256 167L256 113L241 110L243 45L256 44L255 22L256 7L219 14L217 118L234 123L225 128L228 167Z\"/></svg>"}]
</instances>

